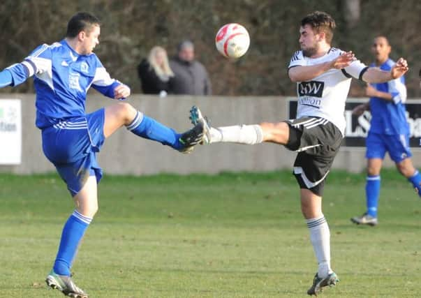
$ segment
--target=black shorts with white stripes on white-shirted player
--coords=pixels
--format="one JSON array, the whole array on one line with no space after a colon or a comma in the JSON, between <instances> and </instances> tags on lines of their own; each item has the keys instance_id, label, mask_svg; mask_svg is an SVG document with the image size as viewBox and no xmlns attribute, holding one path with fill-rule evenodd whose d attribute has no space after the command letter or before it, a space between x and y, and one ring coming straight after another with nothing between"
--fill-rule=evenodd
<instances>
[{"instance_id":1,"label":"black shorts with white stripes on white-shirted player","mask_svg":"<svg viewBox=\"0 0 421 298\"><path fill-rule=\"evenodd\" d=\"M286 148L297 151L294 175L300 188L323 195L325 178L343 138L341 131L330 121L318 117L304 117L286 121L290 137Z\"/></svg>"}]
</instances>

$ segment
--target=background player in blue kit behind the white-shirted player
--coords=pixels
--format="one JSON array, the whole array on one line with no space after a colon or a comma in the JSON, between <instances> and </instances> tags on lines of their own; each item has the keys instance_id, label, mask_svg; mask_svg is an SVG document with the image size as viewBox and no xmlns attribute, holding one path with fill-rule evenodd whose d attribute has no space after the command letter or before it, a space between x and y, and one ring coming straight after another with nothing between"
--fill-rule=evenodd
<instances>
[{"instance_id":1,"label":"background player in blue kit behind the white-shirted player","mask_svg":"<svg viewBox=\"0 0 421 298\"><path fill-rule=\"evenodd\" d=\"M382 70L390 70L394 61L389 58L391 51L385 36L374 38L371 51L376 59L374 64ZM378 197L381 186L381 167L385 153L388 152L396 167L421 195L421 175L411 161L409 148L409 126L406 121L405 78L399 77L385 83L369 84L366 89L369 103L355 107L355 114L364 110L371 111L369 135L367 136L367 211L362 216L351 218L353 223L377 225Z\"/></svg>"}]
</instances>

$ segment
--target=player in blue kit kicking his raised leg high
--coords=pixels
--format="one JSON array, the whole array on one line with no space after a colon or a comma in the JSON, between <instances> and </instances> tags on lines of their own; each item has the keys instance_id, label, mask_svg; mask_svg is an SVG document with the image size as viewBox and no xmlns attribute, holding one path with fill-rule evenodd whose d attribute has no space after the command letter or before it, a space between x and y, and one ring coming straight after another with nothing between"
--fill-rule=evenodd
<instances>
[{"instance_id":1,"label":"player in blue kit kicking his raised leg high","mask_svg":"<svg viewBox=\"0 0 421 298\"><path fill-rule=\"evenodd\" d=\"M85 114L89 87L123 100L130 89L110 77L93 53L99 43L100 23L89 13L77 13L68 22L66 38L40 45L20 64L0 72L0 87L16 86L34 76L36 126L42 131L45 156L57 168L75 201L68 218L47 285L71 297L88 297L71 279L71 265L85 230L98 211L97 184L102 176L96 152L106 137L122 126L149 140L182 152L202 141L203 126L176 133L128 103L119 102Z\"/></svg>"}]
</instances>

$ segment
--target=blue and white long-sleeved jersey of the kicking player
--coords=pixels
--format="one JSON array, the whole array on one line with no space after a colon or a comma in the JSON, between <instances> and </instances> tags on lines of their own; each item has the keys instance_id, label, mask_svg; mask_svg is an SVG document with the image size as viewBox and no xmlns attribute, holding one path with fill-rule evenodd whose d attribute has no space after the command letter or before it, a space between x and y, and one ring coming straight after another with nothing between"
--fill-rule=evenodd
<instances>
[{"instance_id":1,"label":"blue and white long-sleeved jersey of the kicking player","mask_svg":"<svg viewBox=\"0 0 421 298\"><path fill-rule=\"evenodd\" d=\"M7 69L13 86L34 75L38 128L83 116L89 87L114 98L114 89L121 84L110 77L96 54L77 54L66 40L40 45L22 63Z\"/></svg>"}]
</instances>

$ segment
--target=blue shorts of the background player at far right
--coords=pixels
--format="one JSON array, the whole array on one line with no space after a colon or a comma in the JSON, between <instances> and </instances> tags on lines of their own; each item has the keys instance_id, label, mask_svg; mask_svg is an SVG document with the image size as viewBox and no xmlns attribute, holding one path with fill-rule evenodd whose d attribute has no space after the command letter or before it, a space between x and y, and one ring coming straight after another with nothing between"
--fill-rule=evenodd
<instances>
[{"instance_id":1,"label":"blue shorts of the background player at far right","mask_svg":"<svg viewBox=\"0 0 421 298\"><path fill-rule=\"evenodd\" d=\"M400 163L405 158L411 157L409 148L409 135L383 135L371 133L366 139L366 158L385 158L386 151L395 163Z\"/></svg>"}]
</instances>

